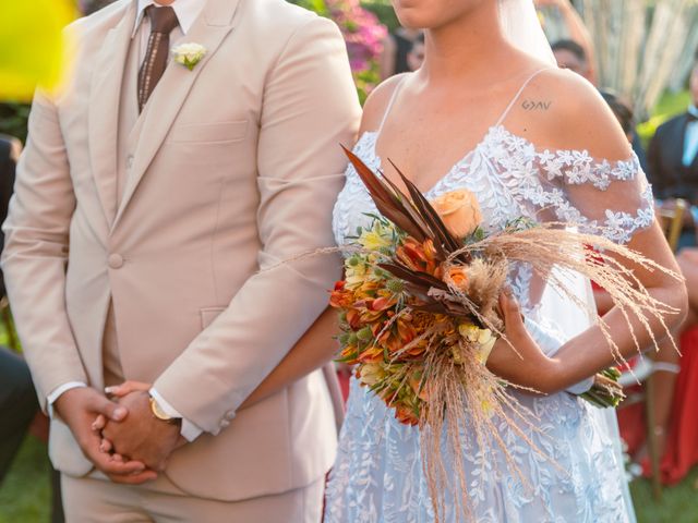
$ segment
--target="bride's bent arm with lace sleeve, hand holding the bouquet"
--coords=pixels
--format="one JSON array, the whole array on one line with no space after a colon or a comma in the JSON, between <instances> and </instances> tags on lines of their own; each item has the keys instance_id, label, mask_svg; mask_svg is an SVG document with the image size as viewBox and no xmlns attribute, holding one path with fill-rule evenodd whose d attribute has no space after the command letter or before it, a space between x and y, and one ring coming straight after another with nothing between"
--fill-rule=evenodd
<instances>
[{"instance_id":1,"label":"bride's bent arm with lace sleeve, hand holding the bouquet","mask_svg":"<svg viewBox=\"0 0 698 523\"><path fill-rule=\"evenodd\" d=\"M613 223L610 238L618 241L629 238L630 250L679 273L657 221L645 227L645 217L651 212L652 203L645 194L639 167L628 161L624 165L625 170L618 168L612 172L613 166L617 166L614 162L630 158L631 151L602 99L589 84L570 73L546 73L532 85L528 96L549 99L551 110L540 115L521 111L518 120L514 112L514 126L520 122L521 127L532 133L530 139L533 143L543 142L550 147L549 150L571 149L568 153L574 156L576 163L573 165L577 169L573 172L575 177L569 179L565 178L565 172L556 174L558 178L555 180L561 181L554 188L561 196L561 208L556 210L551 206L555 211L552 219L577 216L576 219L582 220L580 223L583 220L588 223ZM544 133L533 134L540 129ZM522 134L525 130L521 130ZM591 157L606 158L607 161L592 160ZM549 174L544 171L546 167L550 166L542 165L541 177ZM675 309L675 314L662 313L658 317L647 315L640 318L630 311L626 311L626 317L624 311L613 307L603 316L617 352L627 358L637 354L638 348L653 348L653 338L660 341L682 323L687 311L687 293L683 281L665 271L645 270L627 259L617 262L633 272L652 299ZM488 366L503 378L541 392L555 392L617 364L614 348L599 325L567 341L554 356L546 357L526 332L516 305L509 304L508 308L508 317L505 317L509 324L506 326L507 337L522 357L504 342L495 345Z\"/></svg>"}]
</instances>

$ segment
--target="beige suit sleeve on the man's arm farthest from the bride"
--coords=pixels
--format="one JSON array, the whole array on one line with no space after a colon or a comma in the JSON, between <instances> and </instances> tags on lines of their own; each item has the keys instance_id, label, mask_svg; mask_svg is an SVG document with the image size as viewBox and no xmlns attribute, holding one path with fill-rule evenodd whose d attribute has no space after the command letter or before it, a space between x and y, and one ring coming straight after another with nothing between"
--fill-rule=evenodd
<instances>
[{"instance_id":1,"label":"beige suit sleeve on the man's arm farthest from the bride","mask_svg":"<svg viewBox=\"0 0 698 523\"><path fill-rule=\"evenodd\" d=\"M69 230L75 209L55 105L37 94L3 226L8 296L41 406L63 384L87 382L65 311Z\"/></svg>"}]
</instances>

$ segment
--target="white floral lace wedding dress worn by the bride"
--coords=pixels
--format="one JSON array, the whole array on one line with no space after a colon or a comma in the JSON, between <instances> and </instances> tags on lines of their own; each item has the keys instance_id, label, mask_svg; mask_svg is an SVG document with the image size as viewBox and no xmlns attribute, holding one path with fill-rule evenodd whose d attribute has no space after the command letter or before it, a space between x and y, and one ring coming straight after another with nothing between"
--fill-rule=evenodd
<instances>
[{"instance_id":1,"label":"white floral lace wedding dress worn by the bride","mask_svg":"<svg viewBox=\"0 0 698 523\"><path fill-rule=\"evenodd\" d=\"M377 133L365 133L354 153L374 170ZM478 197L483 223L490 230L528 217L538 221L565 220L605 227L606 235L627 242L653 220L651 188L636 157L609 162L583 150L539 150L502 124L491 127L482 142L428 193L433 198L456 188ZM370 222L375 214L368 192L353 168L334 214L338 244ZM589 325L561 299L532 303L532 275L527 266L510 278L527 325L541 346L552 353ZM582 282L579 292L588 292ZM574 307L573 307L574 308ZM570 321L569 319L573 319ZM589 382L577 387L585 390ZM469 496L478 523L623 523L635 521L613 411L595 409L567 391L533 398L516 394L539 418L528 436L552 460L541 458L505 424L502 436L527 489L509 472L497 448L479 449L466 437L465 467ZM420 458L420 433L398 423L393 412L352 379L339 451L326 494L327 523L426 523L434 521ZM446 514L446 521L459 521Z\"/></svg>"}]
</instances>

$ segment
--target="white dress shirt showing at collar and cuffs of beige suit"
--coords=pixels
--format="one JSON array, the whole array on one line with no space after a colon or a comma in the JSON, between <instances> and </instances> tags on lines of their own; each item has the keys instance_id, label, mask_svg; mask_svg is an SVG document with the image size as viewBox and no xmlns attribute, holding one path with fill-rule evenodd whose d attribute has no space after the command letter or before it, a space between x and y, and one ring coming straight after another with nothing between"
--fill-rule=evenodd
<instances>
[{"instance_id":1,"label":"white dress shirt showing at collar and cuffs of beige suit","mask_svg":"<svg viewBox=\"0 0 698 523\"><path fill-rule=\"evenodd\" d=\"M174 10L174 14L177 14L177 21L179 22L179 26L172 29L170 33L170 49L178 45L180 41L183 42L186 36L186 33L191 29L192 25L201 14L206 0L174 0L170 7ZM160 7L155 0L139 0L137 5L137 14L135 19L135 25L133 26L133 33L131 38L135 44L139 45L139 62L143 62L145 59L145 53L148 47L148 38L151 37L151 20L145 14L145 9L149 5ZM63 392L67 392L71 389L75 389L79 387L87 387L86 384L80 381L70 381L68 384L63 384L48 396L48 413L52 417L53 416L53 403L58 400ZM196 439L203 430L197 427L194 423L190 422L182 417L182 415L177 412L177 410L168 403L168 401L163 398L157 390L151 389L151 396L158 402L163 411L172 417L182 418L182 429L181 434L188 441L193 441Z\"/></svg>"}]
</instances>

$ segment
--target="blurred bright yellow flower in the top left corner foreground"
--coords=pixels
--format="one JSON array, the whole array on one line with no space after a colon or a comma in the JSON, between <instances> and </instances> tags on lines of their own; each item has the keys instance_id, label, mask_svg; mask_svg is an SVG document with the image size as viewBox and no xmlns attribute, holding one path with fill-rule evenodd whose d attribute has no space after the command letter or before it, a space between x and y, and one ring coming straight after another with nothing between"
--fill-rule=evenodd
<instances>
[{"instance_id":1,"label":"blurred bright yellow flower in the top left corner foreground","mask_svg":"<svg viewBox=\"0 0 698 523\"><path fill-rule=\"evenodd\" d=\"M65 73L62 32L75 17L70 0L0 2L0 99L29 100L37 84L59 87Z\"/></svg>"}]
</instances>

